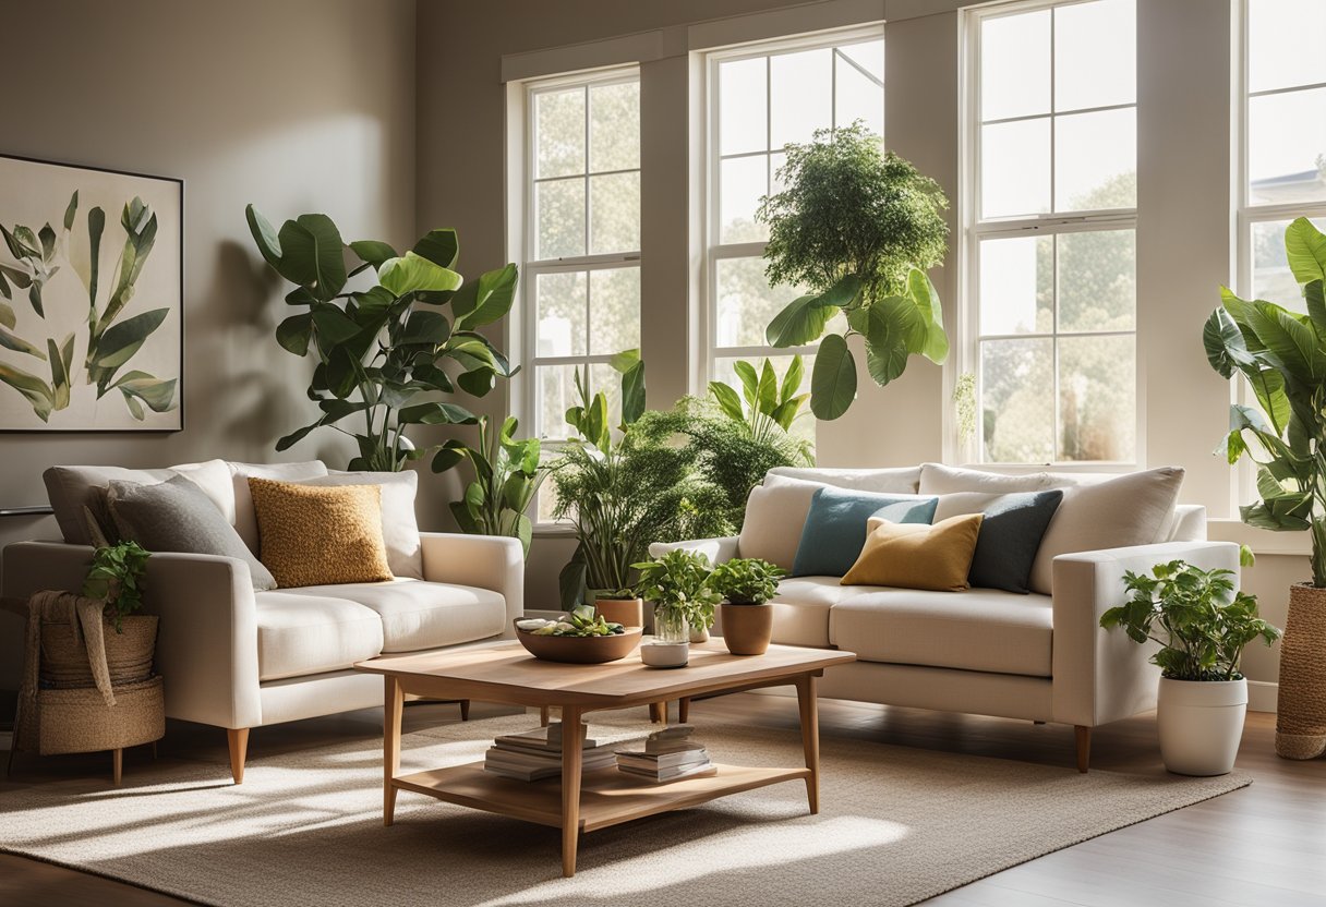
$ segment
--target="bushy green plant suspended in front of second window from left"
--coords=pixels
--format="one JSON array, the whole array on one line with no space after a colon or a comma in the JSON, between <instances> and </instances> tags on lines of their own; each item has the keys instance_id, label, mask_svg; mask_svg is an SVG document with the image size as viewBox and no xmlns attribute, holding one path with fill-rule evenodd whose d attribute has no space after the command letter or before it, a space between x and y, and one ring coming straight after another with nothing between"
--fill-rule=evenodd
<instances>
[{"instance_id":1,"label":"bushy green plant suspended in front of second window from left","mask_svg":"<svg viewBox=\"0 0 1326 907\"><path fill-rule=\"evenodd\" d=\"M911 355L948 358L939 294L926 276L944 257L948 200L859 122L789 145L778 179L786 188L756 215L769 225L765 273L770 284L809 292L774 317L766 337L777 347L819 341L810 408L837 419L857 395L849 337L863 338L866 367L880 387ZM846 330L825 334L839 312Z\"/></svg>"}]
</instances>

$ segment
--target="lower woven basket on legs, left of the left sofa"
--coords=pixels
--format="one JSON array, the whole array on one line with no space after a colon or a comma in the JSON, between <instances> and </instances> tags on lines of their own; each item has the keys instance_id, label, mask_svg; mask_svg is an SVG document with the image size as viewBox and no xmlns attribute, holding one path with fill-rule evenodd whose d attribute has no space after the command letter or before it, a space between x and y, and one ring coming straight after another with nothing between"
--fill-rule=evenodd
<instances>
[{"instance_id":1,"label":"lower woven basket on legs, left of the left sofa","mask_svg":"<svg viewBox=\"0 0 1326 907\"><path fill-rule=\"evenodd\" d=\"M166 736L166 700L159 676L117 684L114 690L114 705L106 705L95 687L38 692L37 752L95 753Z\"/></svg>"}]
</instances>

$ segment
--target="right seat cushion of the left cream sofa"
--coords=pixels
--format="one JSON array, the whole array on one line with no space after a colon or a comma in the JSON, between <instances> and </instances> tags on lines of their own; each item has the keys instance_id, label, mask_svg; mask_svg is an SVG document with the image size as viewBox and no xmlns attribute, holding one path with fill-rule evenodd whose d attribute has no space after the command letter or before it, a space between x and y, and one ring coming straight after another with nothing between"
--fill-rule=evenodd
<instances>
[{"instance_id":1,"label":"right seat cushion of the left cream sofa","mask_svg":"<svg viewBox=\"0 0 1326 907\"><path fill-rule=\"evenodd\" d=\"M507 599L489 589L422 579L292 589L293 595L335 595L382 619L382 651L412 652L497 636L507 630Z\"/></svg>"}]
</instances>

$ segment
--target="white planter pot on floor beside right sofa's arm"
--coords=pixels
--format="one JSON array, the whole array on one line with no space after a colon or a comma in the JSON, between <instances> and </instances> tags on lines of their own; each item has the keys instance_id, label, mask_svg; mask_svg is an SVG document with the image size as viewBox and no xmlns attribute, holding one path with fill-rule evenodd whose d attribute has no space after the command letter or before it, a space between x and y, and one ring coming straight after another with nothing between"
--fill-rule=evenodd
<instances>
[{"instance_id":1,"label":"white planter pot on floor beside right sofa's arm","mask_svg":"<svg viewBox=\"0 0 1326 907\"><path fill-rule=\"evenodd\" d=\"M1160 678L1156 725L1164 766L1175 774L1228 774L1246 715L1246 680Z\"/></svg>"}]
</instances>

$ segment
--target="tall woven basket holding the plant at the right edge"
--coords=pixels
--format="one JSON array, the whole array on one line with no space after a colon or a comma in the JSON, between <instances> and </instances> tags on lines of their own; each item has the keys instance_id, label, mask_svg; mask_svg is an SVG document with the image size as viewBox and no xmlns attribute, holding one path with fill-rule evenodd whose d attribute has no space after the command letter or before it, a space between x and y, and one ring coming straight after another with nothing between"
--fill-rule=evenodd
<instances>
[{"instance_id":1,"label":"tall woven basket holding the plant at the right edge","mask_svg":"<svg viewBox=\"0 0 1326 907\"><path fill-rule=\"evenodd\" d=\"M1326 589L1289 587L1289 618L1280 643L1276 752L1285 758L1326 753Z\"/></svg>"}]
</instances>

